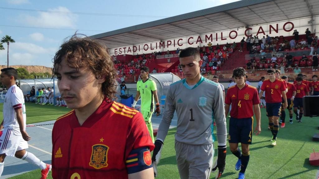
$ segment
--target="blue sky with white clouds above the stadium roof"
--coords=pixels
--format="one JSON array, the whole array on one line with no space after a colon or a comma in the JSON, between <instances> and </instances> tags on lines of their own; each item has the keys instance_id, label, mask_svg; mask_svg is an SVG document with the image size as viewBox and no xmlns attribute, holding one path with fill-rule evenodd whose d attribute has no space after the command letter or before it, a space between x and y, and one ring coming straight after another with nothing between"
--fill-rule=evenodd
<instances>
[{"instance_id":1,"label":"blue sky with white clouds above the stadium roof","mask_svg":"<svg viewBox=\"0 0 319 179\"><path fill-rule=\"evenodd\" d=\"M91 36L231 2L234 0L1 0L0 38L9 35L16 41L9 46L9 65L52 67L59 46L77 30ZM7 44L3 45L0 65L7 64Z\"/></svg>"}]
</instances>

